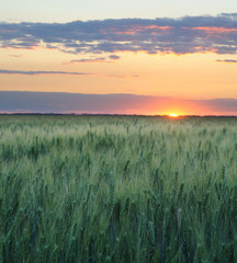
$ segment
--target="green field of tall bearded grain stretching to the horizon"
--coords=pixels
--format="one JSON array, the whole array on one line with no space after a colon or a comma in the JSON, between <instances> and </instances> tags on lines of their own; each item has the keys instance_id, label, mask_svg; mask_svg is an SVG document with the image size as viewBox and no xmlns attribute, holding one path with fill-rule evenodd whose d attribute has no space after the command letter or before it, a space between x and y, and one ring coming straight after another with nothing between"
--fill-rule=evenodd
<instances>
[{"instance_id":1,"label":"green field of tall bearded grain stretching to the horizon","mask_svg":"<svg viewBox=\"0 0 237 263\"><path fill-rule=\"evenodd\" d=\"M237 262L237 118L1 115L0 262Z\"/></svg>"}]
</instances>

